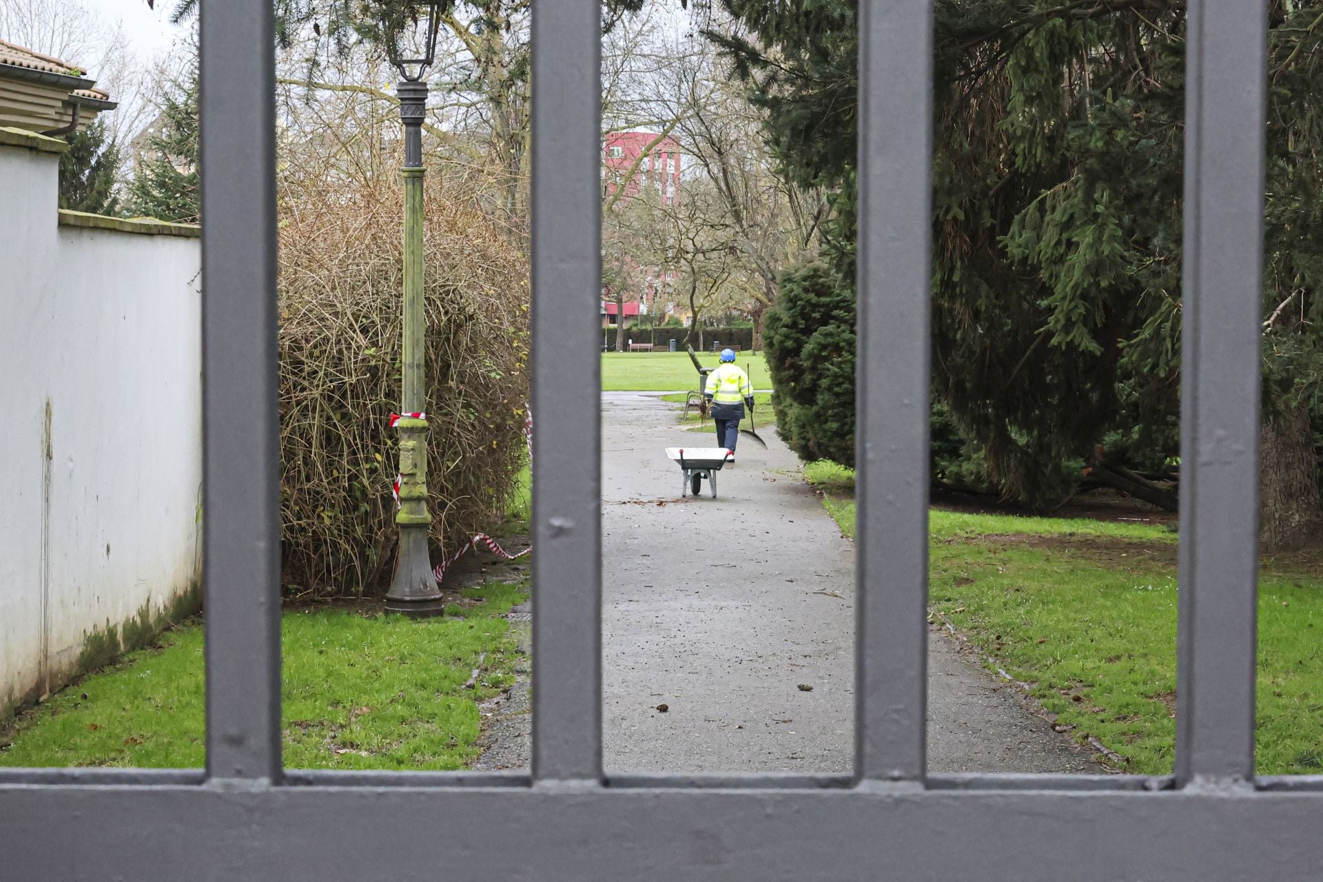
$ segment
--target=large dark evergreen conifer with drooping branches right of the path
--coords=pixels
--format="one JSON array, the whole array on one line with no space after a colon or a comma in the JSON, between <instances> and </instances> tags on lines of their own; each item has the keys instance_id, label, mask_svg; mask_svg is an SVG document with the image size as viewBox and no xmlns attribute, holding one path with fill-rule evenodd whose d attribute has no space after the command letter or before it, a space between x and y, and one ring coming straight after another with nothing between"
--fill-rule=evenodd
<instances>
[{"instance_id":1,"label":"large dark evergreen conifer with drooping branches right of the path","mask_svg":"<svg viewBox=\"0 0 1323 882\"><path fill-rule=\"evenodd\" d=\"M824 258L848 286L857 3L722 1L749 36L710 36L766 110L787 177L837 193ZM1262 524L1266 547L1290 547L1323 533L1323 32L1316 3L1270 7ZM1179 455L1183 4L938 0L934 25L943 419L991 484L1036 505L1072 493L1093 460L1164 465ZM791 301L820 294L786 279L777 309L802 316ZM822 321L853 331L844 312ZM769 340L778 386L811 385L820 337L806 325ZM802 436L794 409L778 419Z\"/></svg>"}]
</instances>

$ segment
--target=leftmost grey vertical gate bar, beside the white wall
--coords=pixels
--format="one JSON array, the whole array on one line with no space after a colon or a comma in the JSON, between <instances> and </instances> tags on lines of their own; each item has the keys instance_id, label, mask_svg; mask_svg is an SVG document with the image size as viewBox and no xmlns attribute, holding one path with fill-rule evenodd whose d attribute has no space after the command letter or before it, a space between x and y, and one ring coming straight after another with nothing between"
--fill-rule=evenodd
<instances>
[{"instance_id":1,"label":"leftmost grey vertical gate bar, beside the white wall","mask_svg":"<svg viewBox=\"0 0 1323 882\"><path fill-rule=\"evenodd\" d=\"M201 4L206 770L280 776L270 0Z\"/></svg>"}]
</instances>

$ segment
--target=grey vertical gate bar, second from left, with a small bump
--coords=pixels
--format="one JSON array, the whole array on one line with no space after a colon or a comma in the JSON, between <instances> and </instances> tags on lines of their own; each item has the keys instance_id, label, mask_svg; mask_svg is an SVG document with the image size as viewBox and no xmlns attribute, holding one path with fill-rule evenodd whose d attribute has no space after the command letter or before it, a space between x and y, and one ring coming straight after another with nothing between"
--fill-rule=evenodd
<instances>
[{"instance_id":1,"label":"grey vertical gate bar, second from left, with a small bump","mask_svg":"<svg viewBox=\"0 0 1323 882\"><path fill-rule=\"evenodd\" d=\"M601 7L533 8L533 776L602 776Z\"/></svg>"}]
</instances>

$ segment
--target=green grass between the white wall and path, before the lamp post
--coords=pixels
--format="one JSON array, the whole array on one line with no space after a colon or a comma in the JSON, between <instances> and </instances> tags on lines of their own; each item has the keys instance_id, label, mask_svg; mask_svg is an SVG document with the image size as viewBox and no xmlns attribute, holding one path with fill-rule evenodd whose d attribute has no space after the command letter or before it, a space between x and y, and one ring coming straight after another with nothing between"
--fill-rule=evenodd
<instances>
[{"instance_id":1,"label":"green grass between the white wall and path, before the lamp post","mask_svg":"<svg viewBox=\"0 0 1323 882\"><path fill-rule=\"evenodd\" d=\"M454 770L478 755L478 703L513 682L509 608L490 583L437 619L310 607L282 623L288 768ZM482 661L479 661L482 659ZM472 688L466 688L480 669ZM0 766L198 767L204 763L202 627L60 692L0 729Z\"/></svg>"}]
</instances>

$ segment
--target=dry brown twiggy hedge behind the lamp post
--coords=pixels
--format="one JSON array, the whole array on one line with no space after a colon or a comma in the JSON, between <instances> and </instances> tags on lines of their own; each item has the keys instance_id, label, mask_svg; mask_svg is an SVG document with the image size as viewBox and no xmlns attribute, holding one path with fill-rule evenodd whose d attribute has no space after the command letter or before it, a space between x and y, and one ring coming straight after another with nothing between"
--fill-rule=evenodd
<instances>
[{"instance_id":1,"label":"dry brown twiggy hedge behind the lamp post","mask_svg":"<svg viewBox=\"0 0 1323 882\"><path fill-rule=\"evenodd\" d=\"M528 262L463 182L427 176L429 491L434 559L490 529L525 461ZM394 561L398 179L280 198L282 579L363 595Z\"/></svg>"}]
</instances>

